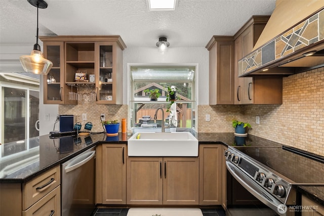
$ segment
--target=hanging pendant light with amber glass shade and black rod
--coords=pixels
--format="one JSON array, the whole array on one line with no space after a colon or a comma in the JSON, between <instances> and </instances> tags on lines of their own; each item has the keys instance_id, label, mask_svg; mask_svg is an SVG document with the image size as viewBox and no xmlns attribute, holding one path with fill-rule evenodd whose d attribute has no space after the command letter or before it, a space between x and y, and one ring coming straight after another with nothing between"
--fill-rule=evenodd
<instances>
[{"instance_id":1,"label":"hanging pendant light with amber glass shade and black rod","mask_svg":"<svg viewBox=\"0 0 324 216\"><path fill-rule=\"evenodd\" d=\"M47 3L43 0L27 0L30 5L37 8L37 33L36 33L36 44L34 49L31 51L30 56L21 56L19 58L22 67L26 72L35 74L47 74L53 66L53 63L44 58L41 52L41 46L38 45L38 8L47 8Z\"/></svg>"}]
</instances>

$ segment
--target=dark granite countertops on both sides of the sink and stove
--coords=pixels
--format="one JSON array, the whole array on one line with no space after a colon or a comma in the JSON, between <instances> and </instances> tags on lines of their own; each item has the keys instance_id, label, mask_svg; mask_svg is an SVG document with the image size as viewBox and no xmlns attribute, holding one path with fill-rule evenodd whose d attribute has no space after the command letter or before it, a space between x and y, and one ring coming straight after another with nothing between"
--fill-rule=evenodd
<instances>
[{"instance_id":1,"label":"dark granite countertops on both sides of the sink and stove","mask_svg":"<svg viewBox=\"0 0 324 216\"><path fill-rule=\"evenodd\" d=\"M199 144L234 145L233 133L193 133ZM72 157L103 143L127 144L131 135L119 133L50 138L49 135L7 143L0 146L0 183L25 183L35 176L64 163ZM246 146L282 146L263 138L249 135ZM324 186L298 186L298 190L324 205Z\"/></svg>"}]
</instances>

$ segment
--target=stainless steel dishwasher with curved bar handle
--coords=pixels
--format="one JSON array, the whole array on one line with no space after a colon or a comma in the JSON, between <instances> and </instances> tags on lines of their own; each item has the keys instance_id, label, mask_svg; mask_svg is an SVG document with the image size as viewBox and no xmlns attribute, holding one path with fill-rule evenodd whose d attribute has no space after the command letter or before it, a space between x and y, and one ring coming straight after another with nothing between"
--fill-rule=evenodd
<instances>
[{"instance_id":1,"label":"stainless steel dishwasher with curved bar handle","mask_svg":"<svg viewBox=\"0 0 324 216\"><path fill-rule=\"evenodd\" d=\"M61 165L62 216L89 216L95 209L95 148Z\"/></svg>"}]
</instances>

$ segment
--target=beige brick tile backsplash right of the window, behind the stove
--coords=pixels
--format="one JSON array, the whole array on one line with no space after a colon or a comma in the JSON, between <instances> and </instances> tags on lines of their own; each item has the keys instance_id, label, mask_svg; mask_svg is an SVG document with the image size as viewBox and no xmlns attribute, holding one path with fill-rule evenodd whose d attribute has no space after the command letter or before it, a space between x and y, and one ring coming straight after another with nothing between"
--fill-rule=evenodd
<instances>
[{"instance_id":1,"label":"beige brick tile backsplash right of the window, behind the stove","mask_svg":"<svg viewBox=\"0 0 324 216\"><path fill-rule=\"evenodd\" d=\"M324 156L324 67L283 79L282 105L199 105L198 132L234 132L233 117L249 134ZM211 121L205 121L205 115ZM260 116L260 124L256 124Z\"/></svg>"}]
</instances>

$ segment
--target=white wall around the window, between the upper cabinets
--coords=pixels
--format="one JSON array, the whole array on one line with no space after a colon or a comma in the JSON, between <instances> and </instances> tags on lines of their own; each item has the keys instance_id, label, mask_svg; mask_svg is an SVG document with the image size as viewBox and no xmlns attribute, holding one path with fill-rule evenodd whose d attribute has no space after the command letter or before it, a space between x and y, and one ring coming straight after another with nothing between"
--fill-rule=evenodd
<instances>
[{"instance_id":1,"label":"white wall around the window, between the upper cabinets","mask_svg":"<svg viewBox=\"0 0 324 216\"><path fill-rule=\"evenodd\" d=\"M181 47L170 48L165 55L157 52L157 47L128 47L124 50L124 92L123 103L127 103L127 64L128 63L191 63L198 64L198 103L199 105L209 104L209 52L204 47Z\"/></svg>"}]
</instances>

